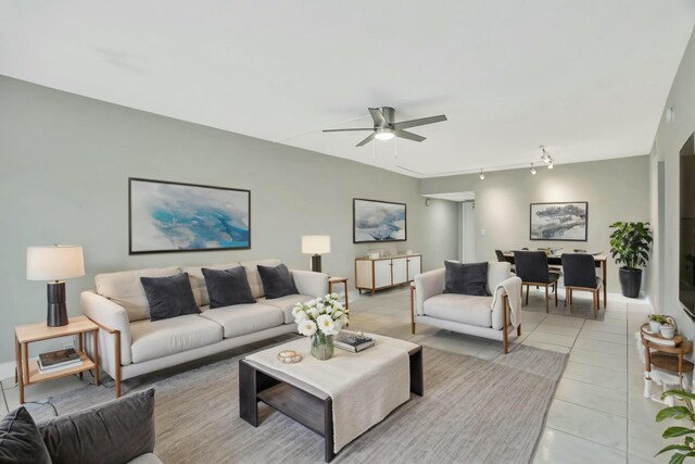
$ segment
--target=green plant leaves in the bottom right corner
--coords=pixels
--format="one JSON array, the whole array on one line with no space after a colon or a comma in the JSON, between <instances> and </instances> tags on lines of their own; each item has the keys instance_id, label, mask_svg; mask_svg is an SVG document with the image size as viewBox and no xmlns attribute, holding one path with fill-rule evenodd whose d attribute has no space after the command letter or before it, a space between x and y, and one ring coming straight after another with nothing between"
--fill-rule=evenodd
<instances>
[{"instance_id":1,"label":"green plant leaves in the bottom right corner","mask_svg":"<svg viewBox=\"0 0 695 464\"><path fill-rule=\"evenodd\" d=\"M669 444L656 453L656 456L668 451L675 451L675 453L671 455L669 462L680 464L685 460L685 457L695 457L695 409L693 409L695 394L683 390L668 390L661 394L661 400L665 400L668 397L674 397L683 401L685 405L662 409L657 413L656 422L661 422L667 418L675 418L687 419L690 424L687 424L686 427L672 426L664 430L661 437L667 439L683 437L683 444Z\"/></svg>"}]
</instances>

